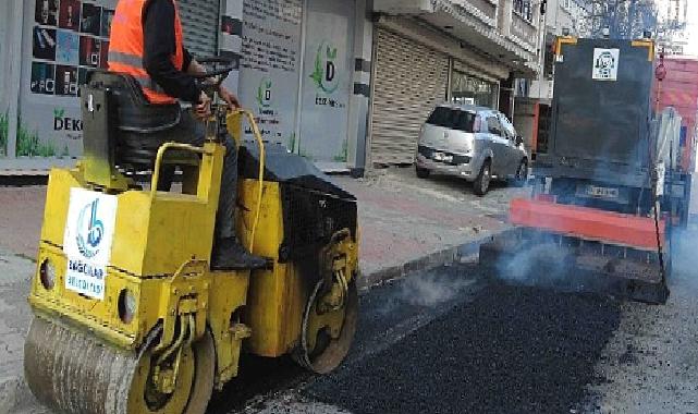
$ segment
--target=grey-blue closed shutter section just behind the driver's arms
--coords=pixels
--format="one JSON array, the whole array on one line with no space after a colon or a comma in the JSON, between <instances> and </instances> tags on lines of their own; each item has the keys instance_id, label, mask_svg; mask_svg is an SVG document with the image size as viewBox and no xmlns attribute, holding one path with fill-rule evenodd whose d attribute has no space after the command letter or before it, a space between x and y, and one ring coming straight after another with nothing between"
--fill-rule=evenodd
<instances>
[{"instance_id":1,"label":"grey-blue closed shutter section just behind the driver's arms","mask_svg":"<svg viewBox=\"0 0 698 414\"><path fill-rule=\"evenodd\" d=\"M220 0L180 0L184 46L196 58L218 54Z\"/></svg>"}]
</instances>

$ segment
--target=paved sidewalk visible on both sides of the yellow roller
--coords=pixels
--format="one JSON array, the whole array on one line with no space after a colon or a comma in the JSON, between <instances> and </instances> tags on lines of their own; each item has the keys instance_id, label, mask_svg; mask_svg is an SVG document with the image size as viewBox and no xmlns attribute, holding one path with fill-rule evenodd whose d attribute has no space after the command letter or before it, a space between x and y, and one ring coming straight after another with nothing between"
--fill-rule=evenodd
<instances>
[{"instance_id":1,"label":"paved sidewalk visible on both sides of the yellow roller","mask_svg":"<svg viewBox=\"0 0 698 414\"><path fill-rule=\"evenodd\" d=\"M463 181L418 180L413 169L333 180L359 202L362 288L476 253L478 241L506 229L509 200L525 192L499 186L478 198ZM23 383L22 358L44 197L44 187L0 187L0 414L42 412Z\"/></svg>"}]
</instances>

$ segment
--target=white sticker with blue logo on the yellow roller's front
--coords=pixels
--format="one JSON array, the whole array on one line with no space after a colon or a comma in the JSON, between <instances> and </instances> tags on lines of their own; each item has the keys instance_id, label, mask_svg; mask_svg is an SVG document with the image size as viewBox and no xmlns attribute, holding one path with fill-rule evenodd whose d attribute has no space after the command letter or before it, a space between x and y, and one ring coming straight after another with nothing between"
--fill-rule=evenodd
<instances>
[{"instance_id":1,"label":"white sticker with blue logo on the yellow roller's front","mask_svg":"<svg viewBox=\"0 0 698 414\"><path fill-rule=\"evenodd\" d=\"M68 256L65 289L100 301L105 299L117 200L112 195L71 190L63 235L63 251Z\"/></svg>"}]
</instances>

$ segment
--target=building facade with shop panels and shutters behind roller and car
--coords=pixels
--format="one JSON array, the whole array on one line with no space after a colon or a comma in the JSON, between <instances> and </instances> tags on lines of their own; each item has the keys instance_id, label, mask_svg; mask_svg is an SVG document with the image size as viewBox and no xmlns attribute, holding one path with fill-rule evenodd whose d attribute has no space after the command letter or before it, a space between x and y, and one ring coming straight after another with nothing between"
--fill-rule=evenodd
<instances>
[{"instance_id":1,"label":"building facade with shop panels and shutters behind roller and car","mask_svg":"<svg viewBox=\"0 0 698 414\"><path fill-rule=\"evenodd\" d=\"M79 86L106 66L115 3L0 2L0 173L81 157ZM514 80L540 71L540 0L177 4L187 48L234 61L226 85L266 141L326 170L413 162L437 104L513 113Z\"/></svg>"}]
</instances>

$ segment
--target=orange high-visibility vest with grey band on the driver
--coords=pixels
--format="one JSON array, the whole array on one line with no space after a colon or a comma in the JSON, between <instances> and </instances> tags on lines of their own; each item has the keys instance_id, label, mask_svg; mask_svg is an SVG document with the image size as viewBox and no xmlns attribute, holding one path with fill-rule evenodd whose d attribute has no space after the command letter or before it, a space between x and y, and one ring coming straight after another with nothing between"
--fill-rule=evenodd
<instances>
[{"instance_id":1,"label":"orange high-visibility vest with grey band on the driver","mask_svg":"<svg viewBox=\"0 0 698 414\"><path fill-rule=\"evenodd\" d=\"M143 9L147 1L119 0L111 23L109 70L127 73L135 77L151 104L174 104L176 99L167 95L148 75L143 65L145 54ZM171 59L174 68L182 71L184 69L182 21L176 1L172 0L172 3L174 4L175 52Z\"/></svg>"}]
</instances>

